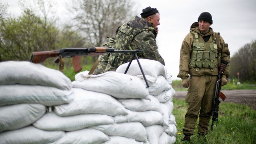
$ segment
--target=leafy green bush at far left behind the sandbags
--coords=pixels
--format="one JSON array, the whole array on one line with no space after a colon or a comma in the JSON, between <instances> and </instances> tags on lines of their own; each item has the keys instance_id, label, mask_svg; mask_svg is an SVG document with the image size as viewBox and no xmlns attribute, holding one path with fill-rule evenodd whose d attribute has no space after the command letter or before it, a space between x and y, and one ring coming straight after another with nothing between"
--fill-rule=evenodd
<instances>
[{"instance_id":1,"label":"leafy green bush at far left behind the sandbags","mask_svg":"<svg viewBox=\"0 0 256 144\"><path fill-rule=\"evenodd\" d=\"M33 51L52 50L57 29L26 9L18 18L6 18L0 27L2 61L29 60Z\"/></svg>"}]
</instances>

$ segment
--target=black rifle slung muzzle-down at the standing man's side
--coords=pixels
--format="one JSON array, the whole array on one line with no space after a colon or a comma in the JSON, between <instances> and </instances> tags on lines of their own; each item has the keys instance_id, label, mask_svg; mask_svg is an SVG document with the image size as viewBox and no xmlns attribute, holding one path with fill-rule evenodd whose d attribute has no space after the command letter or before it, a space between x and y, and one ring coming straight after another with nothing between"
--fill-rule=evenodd
<instances>
[{"instance_id":1,"label":"black rifle slung muzzle-down at the standing man's side","mask_svg":"<svg viewBox=\"0 0 256 144\"><path fill-rule=\"evenodd\" d=\"M221 60L221 63L228 64L227 61ZM226 95L224 95L221 92L221 77L223 74L219 72L218 77L217 77L217 83L216 83L216 88L215 88L215 93L212 101L212 123L211 123L211 131L213 131L213 123L218 122L218 115L219 115L219 104L221 101L219 100L219 97L224 101L226 99Z\"/></svg>"}]
</instances>

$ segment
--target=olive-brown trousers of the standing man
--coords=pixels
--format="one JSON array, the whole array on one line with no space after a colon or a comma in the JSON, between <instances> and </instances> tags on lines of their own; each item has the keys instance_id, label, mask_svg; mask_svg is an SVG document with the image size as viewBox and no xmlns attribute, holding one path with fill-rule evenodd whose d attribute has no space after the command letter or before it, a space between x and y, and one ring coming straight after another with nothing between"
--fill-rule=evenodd
<instances>
[{"instance_id":1,"label":"olive-brown trousers of the standing man","mask_svg":"<svg viewBox=\"0 0 256 144\"><path fill-rule=\"evenodd\" d=\"M194 134L198 114L198 133L208 133L216 81L217 76L191 76L189 80L191 87L189 87L186 95L187 113L183 128L184 135Z\"/></svg>"}]
</instances>

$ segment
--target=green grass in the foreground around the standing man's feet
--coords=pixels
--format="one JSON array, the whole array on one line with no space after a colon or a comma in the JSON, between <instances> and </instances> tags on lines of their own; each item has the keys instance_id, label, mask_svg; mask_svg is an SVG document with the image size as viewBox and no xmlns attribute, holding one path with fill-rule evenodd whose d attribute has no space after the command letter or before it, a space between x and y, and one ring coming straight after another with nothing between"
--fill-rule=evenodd
<instances>
[{"instance_id":1,"label":"green grass in the foreground around the standing man's feet","mask_svg":"<svg viewBox=\"0 0 256 144\"><path fill-rule=\"evenodd\" d=\"M176 98L173 103L173 115L177 123L175 144L188 144L189 142L181 142L187 104L185 99ZM256 144L256 111L242 104L221 103L219 106L219 122L213 127L213 132L208 133L205 138L198 137L196 126L189 144Z\"/></svg>"}]
</instances>

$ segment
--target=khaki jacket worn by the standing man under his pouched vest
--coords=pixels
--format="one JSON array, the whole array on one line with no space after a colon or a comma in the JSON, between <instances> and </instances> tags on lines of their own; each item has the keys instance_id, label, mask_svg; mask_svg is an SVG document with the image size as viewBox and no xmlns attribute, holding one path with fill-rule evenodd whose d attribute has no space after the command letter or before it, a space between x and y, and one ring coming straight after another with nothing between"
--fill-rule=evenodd
<instances>
[{"instance_id":1,"label":"khaki jacket worn by the standing man under his pouched vest","mask_svg":"<svg viewBox=\"0 0 256 144\"><path fill-rule=\"evenodd\" d=\"M196 35L198 36L198 41L204 44L204 46L197 47L196 49L198 48L200 49L203 48L205 50L212 49L212 48L209 48L211 47L209 43L213 43L213 41L217 41L216 33L213 32L212 28L210 28L210 31L204 35L200 33L199 27L191 28L190 33L187 34L187 36L184 38L182 42L182 46L180 49L180 72L177 77L186 79L188 77L188 74L190 74L191 76L218 75L218 65L220 65L220 61L218 61L214 66L214 68L212 69L205 68L205 67L201 67L201 68L191 67L191 61L193 60L192 58L193 47L195 46L194 43L196 43L195 34L193 33L197 33ZM208 36L208 35L211 35L210 39L205 43L202 37ZM228 65L226 66L226 70L224 71L224 75L228 77L230 75L230 72L229 72L230 52L228 50L228 44L224 42L223 38L220 35L218 35L218 37L219 37L219 47L217 48L218 49L217 54L218 56L220 56L220 59L224 59L225 61L228 61ZM198 56L196 56L196 60L198 60Z\"/></svg>"}]
</instances>

